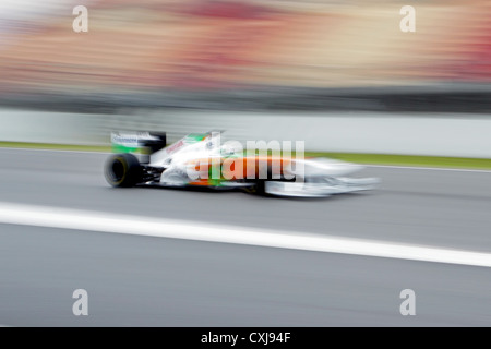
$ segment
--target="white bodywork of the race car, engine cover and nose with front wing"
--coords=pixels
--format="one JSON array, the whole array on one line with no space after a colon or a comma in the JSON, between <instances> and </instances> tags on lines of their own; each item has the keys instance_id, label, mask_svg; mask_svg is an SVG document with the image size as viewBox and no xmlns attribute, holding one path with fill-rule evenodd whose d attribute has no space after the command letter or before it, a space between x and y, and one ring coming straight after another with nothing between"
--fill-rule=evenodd
<instances>
[{"instance_id":1,"label":"white bodywork of the race car, engine cover and nose with front wing","mask_svg":"<svg viewBox=\"0 0 491 349\"><path fill-rule=\"evenodd\" d=\"M219 136L209 133L201 141L187 137L152 154L149 166L165 169L160 177L160 185L184 186L191 179L189 164L193 159L207 158L219 161L233 149L220 145ZM279 196L328 196L333 194L371 190L380 182L376 178L355 179L347 176L362 170L357 164L330 158L296 158L289 174L295 181L265 181L264 191ZM226 181L224 186L241 186L243 181Z\"/></svg>"}]
</instances>

